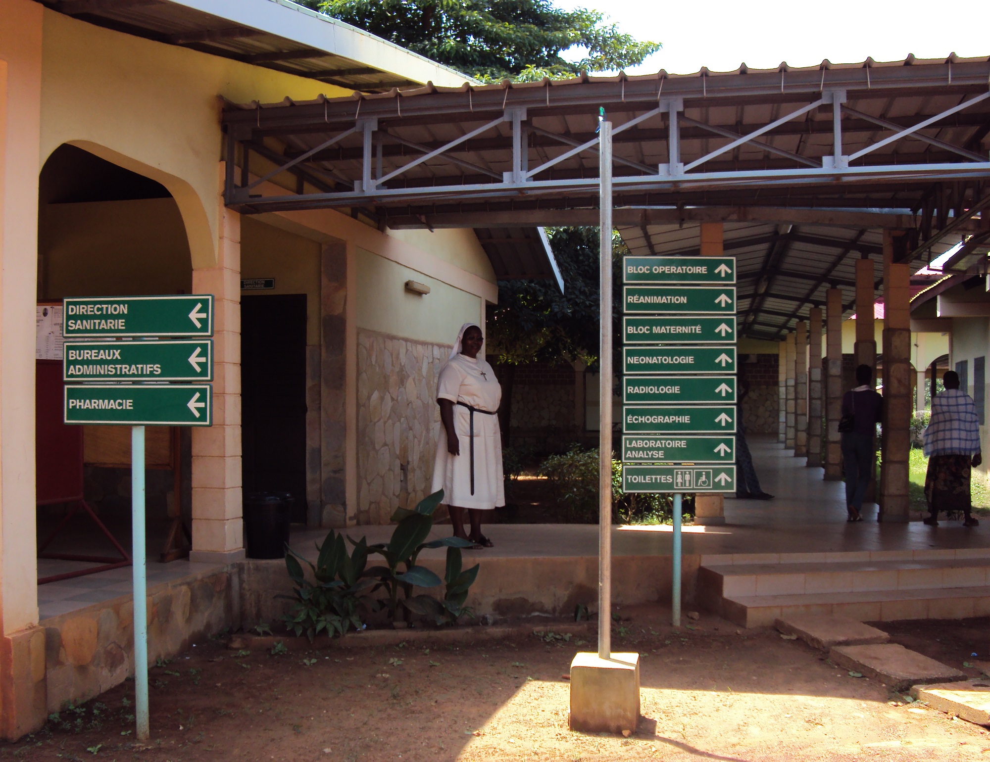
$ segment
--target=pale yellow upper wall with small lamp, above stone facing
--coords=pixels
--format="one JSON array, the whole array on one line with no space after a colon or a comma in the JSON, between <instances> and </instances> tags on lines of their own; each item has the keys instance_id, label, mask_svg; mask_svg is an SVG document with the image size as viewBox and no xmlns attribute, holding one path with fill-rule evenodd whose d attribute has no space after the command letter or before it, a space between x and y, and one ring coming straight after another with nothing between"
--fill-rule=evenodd
<instances>
[{"instance_id":1,"label":"pale yellow upper wall with small lamp, above stone facing","mask_svg":"<svg viewBox=\"0 0 990 762\"><path fill-rule=\"evenodd\" d=\"M479 297L370 251L357 249L355 270L359 329L451 344L462 323L480 319ZM408 293L407 280L427 284L430 293Z\"/></svg>"}]
</instances>

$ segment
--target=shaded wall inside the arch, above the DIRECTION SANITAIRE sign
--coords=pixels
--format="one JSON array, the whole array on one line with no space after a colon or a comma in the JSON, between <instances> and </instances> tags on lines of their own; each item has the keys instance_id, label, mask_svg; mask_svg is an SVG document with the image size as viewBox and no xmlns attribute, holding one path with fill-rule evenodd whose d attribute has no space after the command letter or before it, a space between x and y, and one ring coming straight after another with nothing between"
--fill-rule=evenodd
<instances>
[{"instance_id":1,"label":"shaded wall inside the arch, above the DIRECTION SANITAIRE sign","mask_svg":"<svg viewBox=\"0 0 990 762\"><path fill-rule=\"evenodd\" d=\"M189 244L174 200L47 204L40 214L43 300L191 292Z\"/></svg>"}]
</instances>

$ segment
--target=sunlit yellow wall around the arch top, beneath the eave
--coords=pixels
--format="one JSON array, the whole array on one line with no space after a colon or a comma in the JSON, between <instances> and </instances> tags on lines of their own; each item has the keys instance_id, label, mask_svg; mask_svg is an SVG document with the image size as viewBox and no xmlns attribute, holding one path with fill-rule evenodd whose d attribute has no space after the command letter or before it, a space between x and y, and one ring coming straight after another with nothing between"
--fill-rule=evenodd
<instances>
[{"instance_id":1,"label":"sunlit yellow wall around the arch top, beneath the eave","mask_svg":"<svg viewBox=\"0 0 990 762\"><path fill-rule=\"evenodd\" d=\"M72 143L175 198L196 267L216 262L220 102L348 95L334 85L152 43L45 10L38 169Z\"/></svg>"}]
</instances>

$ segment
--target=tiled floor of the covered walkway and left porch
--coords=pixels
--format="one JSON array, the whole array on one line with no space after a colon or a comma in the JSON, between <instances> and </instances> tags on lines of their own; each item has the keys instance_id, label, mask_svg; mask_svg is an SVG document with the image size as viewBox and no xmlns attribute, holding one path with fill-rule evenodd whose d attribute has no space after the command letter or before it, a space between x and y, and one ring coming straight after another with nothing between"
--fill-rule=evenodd
<instances>
[{"instance_id":1,"label":"tiled floor of the covered walkway and left porch","mask_svg":"<svg viewBox=\"0 0 990 762\"><path fill-rule=\"evenodd\" d=\"M945 548L990 547L990 522L975 528L942 522L938 527L914 521L910 524L877 524L876 507L864 509L866 521L845 523L841 482L822 480L821 468L805 467L804 458L770 438L752 437L749 442L761 485L776 496L771 501L726 501L726 525L697 527L683 535L685 555L750 555L750 563L766 554L776 562L778 554L839 553L863 551L911 552ZM616 555L666 555L671 549L671 533L658 527L615 527L612 535ZM700 530L699 530L700 529ZM387 541L389 526L352 527L347 533L368 542ZM449 525L434 529L435 537L449 532ZM591 524L492 524L485 532L495 547L471 551L472 556L533 558L543 556L595 556L598 554L598 527ZM315 555L313 540L321 540L324 529L293 532L292 545L306 555ZM150 544L150 543L149 543ZM159 543L160 544L160 543ZM149 548L148 585L179 579L210 568L205 564L173 561L159 564L157 547ZM443 549L424 551L425 557L442 557ZM742 559L741 559L742 560ZM59 573L82 564L66 561L39 561L39 573ZM38 589L42 619L53 617L90 603L106 601L130 592L132 569L123 567L72 580L53 582Z\"/></svg>"}]
</instances>

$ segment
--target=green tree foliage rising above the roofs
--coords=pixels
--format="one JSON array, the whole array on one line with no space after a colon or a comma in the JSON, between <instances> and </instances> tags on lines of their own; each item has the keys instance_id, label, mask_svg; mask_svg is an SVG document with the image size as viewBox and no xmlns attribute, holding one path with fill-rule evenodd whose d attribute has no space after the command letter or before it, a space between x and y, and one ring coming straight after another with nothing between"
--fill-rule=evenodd
<instances>
[{"instance_id":1,"label":"green tree foliage rising above the roofs","mask_svg":"<svg viewBox=\"0 0 990 762\"><path fill-rule=\"evenodd\" d=\"M359 29L484 81L561 78L642 63L660 48L550 0L305 0ZM576 61L562 53L584 51Z\"/></svg>"}]
</instances>

